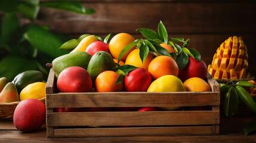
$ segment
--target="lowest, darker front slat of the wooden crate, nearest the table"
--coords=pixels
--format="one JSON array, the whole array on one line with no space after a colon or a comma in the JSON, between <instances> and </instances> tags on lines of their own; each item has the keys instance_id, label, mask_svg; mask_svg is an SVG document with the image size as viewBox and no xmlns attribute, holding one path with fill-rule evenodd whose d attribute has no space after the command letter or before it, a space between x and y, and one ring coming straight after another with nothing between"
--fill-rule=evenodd
<instances>
[{"instance_id":1,"label":"lowest, darker front slat of the wooden crate, nearest the table","mask_svg":"<svg viewBox=\"0 0 256 143\"><path fill-rule=\"evenodd\" d=\"M81 128L55 129L55 137L92 136L151 136L151 135L205 135L211 134L211 126L172 126L135 128Z\"/></svg>"}]
</instances>

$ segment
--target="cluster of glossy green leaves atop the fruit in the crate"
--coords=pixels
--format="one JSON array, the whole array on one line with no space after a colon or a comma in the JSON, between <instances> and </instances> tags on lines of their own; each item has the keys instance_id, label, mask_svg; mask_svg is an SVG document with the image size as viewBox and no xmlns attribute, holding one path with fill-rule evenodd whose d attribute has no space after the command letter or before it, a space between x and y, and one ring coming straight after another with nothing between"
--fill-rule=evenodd
<instances>
[{"instance_id":1,"label":"cluster of glossy green leaves atop the fruit in the crate","mask_svg":"<svg viewBox=\"0 0 256 143\"><path fill-rule=\"evenodd\" d=\"M166 55L174 58L180 70L183 70L184 67L187 65L187 63L189 62L189 57L195 58L195 60L198 61L201 60L201 55L198 51L196 51L196 49L186 48L187 46L189 46L190 39L187 39L186 41L184 40L184 38L168 39L168 33L162 21L160 21L158 24L158 33L146 28L140 28L137 30L140 31L140 33L147 39L136 39L134 42L125 46L125 48L119 54L118 63L121 58L124 57L124 55L135 45L137 45L137 48L140 49L140 59L142 63L147 57L147 54L149 54L149 51L155 52L159 55ZM172 48L174 48L176 53L169 53L165 48L159 45L161 43L166 43L170 45ZM183 45L180 46L177 43L182 43Z\"/></svg>"}]
</instances>

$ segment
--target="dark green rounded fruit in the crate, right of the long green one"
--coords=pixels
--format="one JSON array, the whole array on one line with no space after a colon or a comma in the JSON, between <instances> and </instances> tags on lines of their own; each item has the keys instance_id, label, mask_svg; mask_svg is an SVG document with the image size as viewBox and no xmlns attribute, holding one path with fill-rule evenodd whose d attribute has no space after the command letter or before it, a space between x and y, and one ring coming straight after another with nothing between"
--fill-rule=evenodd
<instances>
[{"instance_id":1,"label":"dark green rounded fruit in the crate, right of the long green one","mask_svg":"<svg viewBox=\"0 0 256 143\"><path fill-rule=\"evenodd\" d=\"M91 76L92 83L95 82L98 74L115 67L115 61L111 55L105 51L98 51L91 57L87 71Z\"/></svg>"}]
</instances>

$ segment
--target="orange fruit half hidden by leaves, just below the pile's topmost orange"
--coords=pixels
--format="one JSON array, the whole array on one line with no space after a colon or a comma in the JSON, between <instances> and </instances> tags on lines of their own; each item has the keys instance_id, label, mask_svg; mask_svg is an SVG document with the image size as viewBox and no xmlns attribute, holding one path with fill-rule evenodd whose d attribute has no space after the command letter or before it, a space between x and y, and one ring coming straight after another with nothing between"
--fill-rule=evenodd
<instances>
[{"instance_id":1,"label":"orange fruit half hidden by leaves, just below the pile's topmost orange","mask_svg":"<svg viewBox=\"0 0 256 143\"><path fill-rule=\"evenodd\" d=\"M147 70L147 68L149 67L149 63L152 60L153 60L152 54L149 52L144 62L142 63L140 59L140 49L134 49L127 56L127 60L125 61L125 64L129 64L135 67L142 67L143 69Z\"/></svg>"}]
</instances>

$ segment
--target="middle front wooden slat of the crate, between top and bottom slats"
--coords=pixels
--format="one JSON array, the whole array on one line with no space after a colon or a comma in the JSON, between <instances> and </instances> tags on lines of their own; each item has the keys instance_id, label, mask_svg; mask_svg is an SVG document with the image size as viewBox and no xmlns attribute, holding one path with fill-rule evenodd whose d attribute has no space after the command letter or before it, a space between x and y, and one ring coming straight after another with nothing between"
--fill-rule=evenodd
<instances>
[{"instance_id":1,"label":"middle front wooden slat of the crate, between top and bottom slats","mask_svg":"<svg viewBox=\"0 0 256 143\"><path fill-rule=\"evenodd\" d=\"M47 114L48 126L213 125L219 124L220 120L218 120L218 116L219 111L78 112Z\"/></svg>"}]
</instances>

